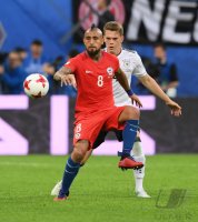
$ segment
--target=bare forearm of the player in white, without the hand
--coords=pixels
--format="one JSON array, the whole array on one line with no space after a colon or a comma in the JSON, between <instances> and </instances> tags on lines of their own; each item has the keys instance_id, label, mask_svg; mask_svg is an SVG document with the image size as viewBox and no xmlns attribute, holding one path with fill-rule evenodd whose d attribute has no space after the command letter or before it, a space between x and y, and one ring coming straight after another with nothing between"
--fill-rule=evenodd
<instances>
[{"instance_id":1,"label":"bare forearm of the player in white, without the hand","mask_svg":"<svg viewBox=\"0 0 198 222\"><path fill-rule=\"evenodd\" d=\"M150 75L146 75L139 80L148 90L150 90L155 95L164 100L166 103L170 101L170 98L161 90L159 84Z\"/></svg>"}]
</instances>

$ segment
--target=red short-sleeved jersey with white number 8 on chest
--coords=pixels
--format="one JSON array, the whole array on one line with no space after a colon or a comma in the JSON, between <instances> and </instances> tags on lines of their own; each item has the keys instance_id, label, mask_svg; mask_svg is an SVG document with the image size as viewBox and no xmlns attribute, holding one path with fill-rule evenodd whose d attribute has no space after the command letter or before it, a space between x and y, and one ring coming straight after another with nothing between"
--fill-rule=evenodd
<instances>
[{"instance_id":1,"label":"red short-sleeved jersey with white number 8 on chest","mask_svg":"<svg viewBox=\"0 0 198 222\"><path fill-rule=\"evenodd\" d=\"M115 107L112 77L118 71L119 60L105 51L101 53L99 61L82 52L65 64L71 69L77 81L77 114Z\"/></svg>"}]
</instances>

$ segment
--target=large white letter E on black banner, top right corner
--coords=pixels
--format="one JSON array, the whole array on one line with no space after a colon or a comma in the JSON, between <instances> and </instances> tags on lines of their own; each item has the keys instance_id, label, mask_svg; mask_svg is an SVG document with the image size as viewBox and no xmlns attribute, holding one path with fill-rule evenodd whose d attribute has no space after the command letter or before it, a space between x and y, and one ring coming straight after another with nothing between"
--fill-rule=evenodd
<instances>
[{"instance_id":1,"label":"large white letter E on black banner, top right corner","mask_svg":"<svg viewBox=\"0 0 198 222\"><path fill-rule=\"evenodd\" d=\"M162 40L176 43L189 43L191 40L190 32L176 32L178 21L189 22L192 21L194 14L190 12L180 12L180 8L196 8L196 2L170 1L168 16L165 21L162 32Z\"/></svg>"}]
</instances>

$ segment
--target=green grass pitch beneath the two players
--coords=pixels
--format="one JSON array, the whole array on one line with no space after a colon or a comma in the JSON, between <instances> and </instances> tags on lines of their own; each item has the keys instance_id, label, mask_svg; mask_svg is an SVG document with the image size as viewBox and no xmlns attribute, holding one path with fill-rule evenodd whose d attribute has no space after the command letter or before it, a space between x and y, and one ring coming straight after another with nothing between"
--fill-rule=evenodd
<instances>
[{"instance_id":1,"label":"green grass pitch beneath the two players","mask_svg":"<svg viewBox=\"0 0 198 222\"><path fill-rule=\"evenodd\" d=\"M0 157L1 222L195 222L198 220L198 155L147 158L145 188L133 194L130 170L116 157L92 157L81 168L70 199L53 202L66 157Z\"/></svg>"}]
</instances>

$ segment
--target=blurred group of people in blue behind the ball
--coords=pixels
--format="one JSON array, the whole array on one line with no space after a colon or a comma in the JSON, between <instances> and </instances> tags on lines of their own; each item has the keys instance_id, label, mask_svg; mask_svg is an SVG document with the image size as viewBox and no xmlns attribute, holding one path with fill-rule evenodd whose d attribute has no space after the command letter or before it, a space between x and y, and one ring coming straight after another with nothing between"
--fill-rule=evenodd
<instances>
[{"instance_id":1,"label":"blurred group of people in blue behind the ball","mask_svg":"<svg viewBox=\"0 0 198 222\"><path fill-rule=\"evenodd\" d=\"M76 97L70 85L60 87L53 81L53 73L63 65L67 59L78 54L71 50L67 57L57 57L53 61L43 56L43 44L33 40L30 49L16 48L9 53L0 53L0 94L23 94L23 81L31 73L44 74L50 84L49 94L67 94Z\"/></svg>"}]
</instances>

